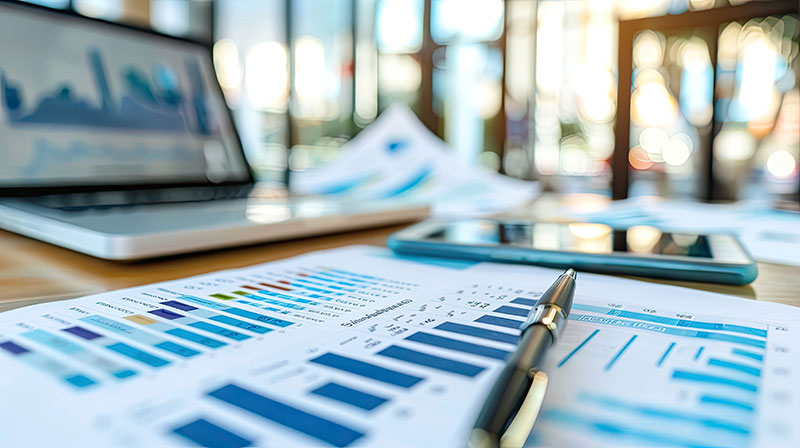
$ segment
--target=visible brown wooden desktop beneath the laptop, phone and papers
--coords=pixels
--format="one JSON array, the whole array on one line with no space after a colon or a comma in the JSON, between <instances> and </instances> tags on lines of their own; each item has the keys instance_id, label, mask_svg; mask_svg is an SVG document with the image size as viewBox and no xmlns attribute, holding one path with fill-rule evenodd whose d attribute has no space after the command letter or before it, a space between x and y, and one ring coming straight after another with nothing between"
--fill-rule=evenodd
<instances>
[{"instance_id":1,"label":"visible brown wooden desktop beneath the laptop, phone and papers","mask_svg":"<svg viewBox=\"0 0 800 448\"><path fill-rule=\"evenodd\" d=\"M546 198L537 201L534 207L537 216L541 217L542 210L551 205ZM386 237L399 228L372 229L135 263L99 260L0 231L0 311L42 301L239 268L312 250L350 244L382 246ZM758 279L748 286L657 282L800 306L800 267L759 263L758 268Z\"/></svg>"}]
</instances>

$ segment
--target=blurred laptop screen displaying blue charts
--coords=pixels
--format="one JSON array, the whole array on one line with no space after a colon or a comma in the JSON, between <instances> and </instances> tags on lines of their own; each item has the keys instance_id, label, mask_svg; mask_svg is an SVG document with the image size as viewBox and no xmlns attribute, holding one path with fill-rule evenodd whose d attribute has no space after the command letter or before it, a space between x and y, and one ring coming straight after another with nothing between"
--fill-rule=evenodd
<instances>
[{"instance_id":1,"label":"blurred laptop screen displaying blue charts","mask_svg":"<svg viewBox=\"0 0 800 448\"><path fill-rule=\"evenodd\" d=\"M208 49L0 4L0 189L246 182Z\"/></svg>"}]
</instances>

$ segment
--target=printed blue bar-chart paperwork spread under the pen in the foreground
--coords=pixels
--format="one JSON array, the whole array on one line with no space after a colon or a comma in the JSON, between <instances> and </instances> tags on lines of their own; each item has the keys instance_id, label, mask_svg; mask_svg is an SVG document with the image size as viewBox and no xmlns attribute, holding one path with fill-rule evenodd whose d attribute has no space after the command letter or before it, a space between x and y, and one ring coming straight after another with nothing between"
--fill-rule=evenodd
<instances>
[{"instance_id":1,"label":"printed blue bar-chart paperwork spread under the pen in the foreground","mask_svg":"<svg viewBox=\"0 0 800 448\"><path fill-rule=\"evenodd\" d=\"M352 246L0 314L4 448L463 447L560 271ZM579 273L529 446L799 446L800 309Z\"/></svg>"}]
</instances>

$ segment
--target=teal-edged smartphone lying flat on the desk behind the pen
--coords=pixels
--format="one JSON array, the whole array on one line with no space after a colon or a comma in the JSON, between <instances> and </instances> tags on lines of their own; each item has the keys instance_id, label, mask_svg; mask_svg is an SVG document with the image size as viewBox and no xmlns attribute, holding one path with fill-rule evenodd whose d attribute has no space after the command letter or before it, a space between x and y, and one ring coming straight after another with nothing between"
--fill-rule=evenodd
<instances>
[{"instance_id":1,"label":"teal-edged smartphone lying flat on the desk behind the pen","mask_svg":"<svg viewBox=\"0 0 800 448\"><path fill-rule=\"evenodd\" d=\"M425 221L392 234L401 255L574 268L671 280L744 285L758 268L730 234L670 232L651 226L468 219Z\"/></svg>"}]
</instances>

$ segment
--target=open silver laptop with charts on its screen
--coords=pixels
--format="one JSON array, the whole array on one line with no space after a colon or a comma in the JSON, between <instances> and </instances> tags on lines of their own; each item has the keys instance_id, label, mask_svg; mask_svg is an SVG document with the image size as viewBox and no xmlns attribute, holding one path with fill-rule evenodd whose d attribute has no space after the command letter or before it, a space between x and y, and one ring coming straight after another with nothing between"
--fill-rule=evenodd
<instances>
[{"instance_id":1,"label":"open silver laptop with charts on its screen","mask_svg":"<svg viewBox=\"0 0 800 448\"><path fill-rule=\"evenodd\" d=\"M210 48L0 2L0 228L132 260L428 213L255 185Z\"/></svg>"}]
</instances>

